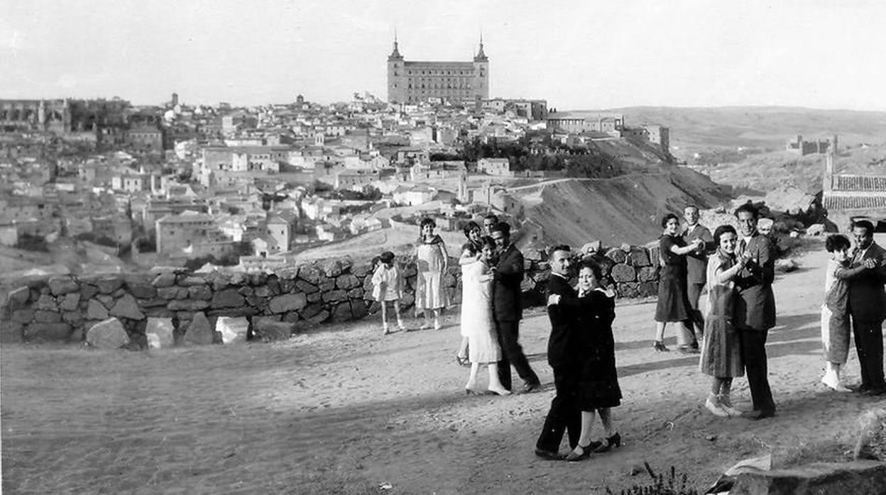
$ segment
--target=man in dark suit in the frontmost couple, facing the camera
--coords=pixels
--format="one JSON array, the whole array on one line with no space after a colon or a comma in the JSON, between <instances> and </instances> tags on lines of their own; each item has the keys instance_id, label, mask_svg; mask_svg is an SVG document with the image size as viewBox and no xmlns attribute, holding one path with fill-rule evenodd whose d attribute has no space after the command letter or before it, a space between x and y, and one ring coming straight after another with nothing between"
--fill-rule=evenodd
<instances>
[{"instance_id":1,"label":"man in dark suit in the frontmost couple, facing the camera","mask_svg":"<svg viewBox=\"0 0 886 495\"><path fill-rule=\"evenodd\" d=\"M535 455L549 460L563 457L558 452L563 432L569 434L569 445L579 445L581 411L576 402L580 367L575 350L578 346L578 297L569 285L571 252L569 246L556 246L550 258L551 276L548 278L548 318L551 336L548 338L548 364L554 369L556 396L545 418Z\"/></svg>"}]
</instances>

